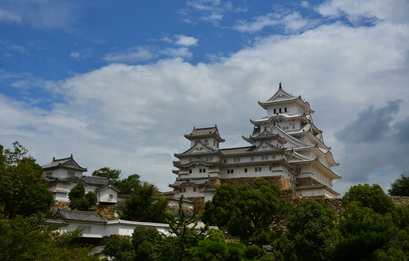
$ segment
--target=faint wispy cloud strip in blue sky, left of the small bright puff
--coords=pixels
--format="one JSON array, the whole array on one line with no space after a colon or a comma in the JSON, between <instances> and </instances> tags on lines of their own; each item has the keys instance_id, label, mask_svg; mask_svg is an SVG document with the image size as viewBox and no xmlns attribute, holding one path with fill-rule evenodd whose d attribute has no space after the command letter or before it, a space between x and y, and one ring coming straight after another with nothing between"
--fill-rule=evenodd
<instances>
[{"instance_id":1,"label":"faint wispy cloud strip in blue sky, left of the small bright puff","mask_svg":"<svg viewBox=\"0 0 409 261\"><path fill-rule=\"evenodd\" d=\"M123 51L110 52L105 54L102 59L108 62L137 62L147 61L156 57L157 54L151 52L149 48L135 46Z\"/></svg>"}]
</instances>

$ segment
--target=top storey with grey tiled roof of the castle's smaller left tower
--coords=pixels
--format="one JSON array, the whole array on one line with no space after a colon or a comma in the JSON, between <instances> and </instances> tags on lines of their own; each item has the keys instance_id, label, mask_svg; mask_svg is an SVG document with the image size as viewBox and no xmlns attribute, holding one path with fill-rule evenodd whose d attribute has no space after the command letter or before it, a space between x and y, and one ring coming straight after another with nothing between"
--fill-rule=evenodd
<instances>
[{"instance_id":1,"label":"top storey with grey tiled roof of the castle's smaller left tower","mask_svg":"<svg viewBox=\"0 0 409 261\"><path fill-rule=\"evenodd\" d=\"M220 142L225 142L225 139L220 137L216 125L210 128L196 128L195 126L193 127L193 131L190 134L185 134L184 137L190 140L191 147L198 144L198 142L202 142L215 150L219 149Z\"/></svg>"}]
</instances>

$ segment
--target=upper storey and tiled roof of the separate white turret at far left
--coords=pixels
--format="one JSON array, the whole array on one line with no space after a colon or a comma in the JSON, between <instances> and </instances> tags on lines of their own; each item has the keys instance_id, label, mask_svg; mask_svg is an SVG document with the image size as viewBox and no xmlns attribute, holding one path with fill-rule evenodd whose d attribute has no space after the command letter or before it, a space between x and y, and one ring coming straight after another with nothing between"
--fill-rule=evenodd
<instances>
[{"instance_id":1,"label":"upper storey and tiled roof of the separate white turret at far left","mask_svg":"<svg viewBox=\"0 0 409 261\"><path fill-rule=\"evenodd\" d=\"M53 157L52 162L42 166L43 177L48 178L60 178L60 177L82 177L83 172L88 171L87 168L81 167L74 158L72 154L70 157L63 159L56 159Z\"/></svg>"}]
</instances>

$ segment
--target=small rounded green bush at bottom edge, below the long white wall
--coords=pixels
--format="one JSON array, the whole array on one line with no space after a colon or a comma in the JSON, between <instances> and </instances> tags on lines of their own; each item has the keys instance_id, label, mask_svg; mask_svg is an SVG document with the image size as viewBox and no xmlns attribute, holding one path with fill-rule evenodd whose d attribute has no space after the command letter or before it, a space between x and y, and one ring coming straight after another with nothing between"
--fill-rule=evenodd
<instances>
[{"instance_id":1,"label":"small rounded green bush at bottom edge, below the long white wall","mask_svg":"<svg viewBox=\"0 0 409 261\"><path fill-rule=\"evenodd\" d=\"M129 239L121 238L118 235L112 236L104 247L105 254L115 261L135 260L135 250Z\"/></svg>"}]
</instances>

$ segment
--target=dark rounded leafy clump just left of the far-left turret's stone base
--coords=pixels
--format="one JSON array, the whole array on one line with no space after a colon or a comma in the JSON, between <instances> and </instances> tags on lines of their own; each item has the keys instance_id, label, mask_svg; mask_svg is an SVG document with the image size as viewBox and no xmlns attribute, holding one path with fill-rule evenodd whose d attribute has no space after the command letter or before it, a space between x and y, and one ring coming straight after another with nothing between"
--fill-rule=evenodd
<instances>
[{"instance_id":1,"label":"dark rounded leafy clump just left of the far-left turret's stone base","mask_svg":"<svg viewBox=\"0 0 409 261\"><path fill-rule=\"evenodd\" d=\"M52 192L43 182L31 184L18 204L17 213L29 216L38 211L48 213L54 198Z\"/></svg>"}]
</instances>

